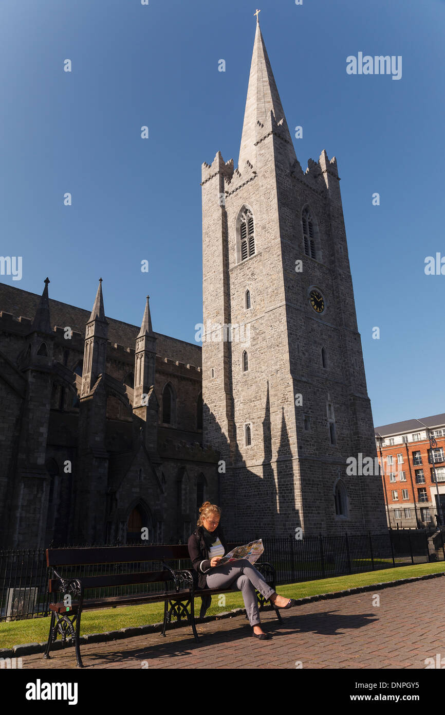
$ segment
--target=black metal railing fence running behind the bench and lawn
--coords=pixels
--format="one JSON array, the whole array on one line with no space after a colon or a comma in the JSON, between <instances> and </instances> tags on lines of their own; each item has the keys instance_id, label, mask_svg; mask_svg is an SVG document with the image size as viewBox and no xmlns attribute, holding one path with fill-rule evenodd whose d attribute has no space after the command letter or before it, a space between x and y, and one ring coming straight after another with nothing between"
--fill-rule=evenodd
<instances>
[{"instance_id":1,"label":"black metal railing fence running behind the bench and lawn","mask_svg":"<svg viewBox=\"0 0 445 715\"><path fill-rule=\"evenodd\" d=\"M239 540L228 539L239 543ZM393 566L445 561L445 536L440 529L423 531L388 531L374 534L341 536L305 536L263 538L261 561L276 568L276 583L313 581L349 573L377 571ZM74 546L74 545L71 545ZM116 546L116 544L76 544L79 546ZM61 547L58 547L61 548ZM69 547L65 547L69 548ZM189 559L171 561L171 568L190 568ZM97 576L107 573L158 571L159 561L124 564L94 564L64 568L63 575ZM36 618L48 615L48 569L45 550L0 550L0 621ZM87 597L114 596L158 591L159 584L149 583L119 588L91 589Z\"/></svg>"}]
</instances>

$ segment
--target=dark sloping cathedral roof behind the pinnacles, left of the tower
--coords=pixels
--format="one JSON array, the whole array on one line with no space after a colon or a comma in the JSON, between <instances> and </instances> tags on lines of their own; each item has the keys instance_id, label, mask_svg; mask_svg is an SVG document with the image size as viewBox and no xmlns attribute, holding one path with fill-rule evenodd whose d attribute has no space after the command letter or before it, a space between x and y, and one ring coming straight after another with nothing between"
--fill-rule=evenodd
<instances>
[{"instance_id":1,"label":"dark sloping cathedral roof behind the pinnacles, left of the tower","mask_svg":"<svg viewBox=\"0 0 445 715\"><path fill-rule=\"evenodd\" d=\"M17 319L23 316L29 318L29 320L34 320L40 302L40 295L0 282L0 312L11 313ZM80 332L81 335L85 335L85 326L91 317L89 310L49 298L49 311L51 330L56 325L59 327L69 326L74 332ZM140 330L139 326L131 325L121 320L114 320L111 317L107 317L106 320L109 322L108 340L134 350L136 336ZM169 335L162 335L159 332L154 332L154 336L156 337L156 354L160 355L161 358L179 360L182 363L201 367L200 345L178 340L176 337L169 337Z\"/></svg>"}]
</instances>

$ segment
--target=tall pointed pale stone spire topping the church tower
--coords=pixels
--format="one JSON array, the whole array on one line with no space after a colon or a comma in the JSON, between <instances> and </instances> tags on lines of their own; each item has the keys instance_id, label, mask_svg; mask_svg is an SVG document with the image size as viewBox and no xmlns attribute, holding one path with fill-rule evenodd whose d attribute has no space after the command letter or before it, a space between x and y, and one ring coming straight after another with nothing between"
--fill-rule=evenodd
<instances>
[{"instance_id":1,"label":"tall pointed pale stone spire topping the church tower","mask_svg":"<svg viewBox=\"0 0 445 715\"><path fill-rule=\"evenodd\" d=\"M269 56L267 55L266 46L264 45L264 39L261 34L258 15L256 15L254 52L252 54L241 148L239 151L238 169L241 174L244 171L247 160L255 164L255 144L259 139L264 137L265 133L269 132L269 130L265 131L262 129L261 125L267 127L268 122L270 122L271 112L274 114L276 124L279 124L279 135L284 139L286 144L289 144L289 152L291 152L290 158L292 160L296 159L294 144L292 144L281 99L278 89L276 89L274 73L272 72Z\"/></svg>"}]
</instances>

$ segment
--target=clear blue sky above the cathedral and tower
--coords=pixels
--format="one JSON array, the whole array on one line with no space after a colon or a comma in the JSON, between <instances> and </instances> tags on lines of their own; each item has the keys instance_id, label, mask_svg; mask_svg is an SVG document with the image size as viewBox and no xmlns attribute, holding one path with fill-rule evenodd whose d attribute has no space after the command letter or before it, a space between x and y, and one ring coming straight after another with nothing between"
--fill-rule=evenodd
<instances>
[{"instance_id":1,"label":"clear blue sky above the cathedral and tower","mask_svg":"<svg viewBox=\"0 0 445 715\"><path fill-rule=\"evenodd\" d=\"M237 162L255 9L2 0L0 254L23 277L0 280L41 292L48 275L89 308L102 277L106 314L135 324L149 292L154 330L194 342L201 163ZM445 3L261 0L260 21L301 166L337 157L374 424L444 412L445 275L424 260L445 256ZM359 51L401 55L401 79L346 74Z\"/></svg>"}]
</instances>

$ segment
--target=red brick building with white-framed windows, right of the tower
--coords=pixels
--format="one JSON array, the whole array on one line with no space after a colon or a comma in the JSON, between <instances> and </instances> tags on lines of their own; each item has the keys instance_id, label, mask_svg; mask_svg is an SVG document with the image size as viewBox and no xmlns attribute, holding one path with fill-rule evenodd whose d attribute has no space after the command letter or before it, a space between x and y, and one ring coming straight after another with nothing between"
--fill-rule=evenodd
<instances>
[{"instance_id":1,"label":"red brick building with white-framed windows, right of the tower","mask_svg":"<svg viewBox=\"0 0 445 715\"><path fill-rule=\"evenodd\" d=\"M389 526L445 523L445 414L374 431Z\"/></svg>"}]
</instances>

